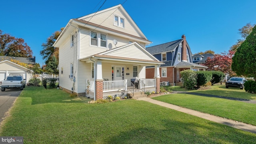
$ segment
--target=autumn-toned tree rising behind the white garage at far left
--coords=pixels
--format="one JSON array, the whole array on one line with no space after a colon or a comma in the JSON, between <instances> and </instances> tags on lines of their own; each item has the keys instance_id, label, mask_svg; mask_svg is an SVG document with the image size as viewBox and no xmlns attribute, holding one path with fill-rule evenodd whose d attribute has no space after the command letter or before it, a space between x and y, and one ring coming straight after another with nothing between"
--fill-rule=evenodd
<instances>
[{"instance_id":1,"label":"autumn-toned tree rising behind the white garage at far left","mask_svg":"<svg viewBox=\"0 0 256 144\"><path fill-rule=\"evenodd\" d=\"M15 38L10 34L3 34L0 30L0 55L32 58L32 50L22 38Z\"/></svg>"}]
</instances>

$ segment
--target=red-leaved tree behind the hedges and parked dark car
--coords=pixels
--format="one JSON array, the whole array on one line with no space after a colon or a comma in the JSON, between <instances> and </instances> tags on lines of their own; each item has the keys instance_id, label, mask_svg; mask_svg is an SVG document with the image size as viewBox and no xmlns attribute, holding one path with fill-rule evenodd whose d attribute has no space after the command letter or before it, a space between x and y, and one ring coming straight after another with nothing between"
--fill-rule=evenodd
<instances>
[{"instance_id":1,"label":"red-leaved tree behind the hedges and parked dark car","mask_svg":"<svg viewBox=\"0 0 256 144\"><path fill-rule=\"evenodd\" d=\"M208 66L207 70L221 71L224 74L230 74L230 76L236 75L232 71L232 57L234 51L229 50L228 52L222 52L221 54L215 54L213 58L207 58L204 66Z\"/></svg>"}]
</instances>

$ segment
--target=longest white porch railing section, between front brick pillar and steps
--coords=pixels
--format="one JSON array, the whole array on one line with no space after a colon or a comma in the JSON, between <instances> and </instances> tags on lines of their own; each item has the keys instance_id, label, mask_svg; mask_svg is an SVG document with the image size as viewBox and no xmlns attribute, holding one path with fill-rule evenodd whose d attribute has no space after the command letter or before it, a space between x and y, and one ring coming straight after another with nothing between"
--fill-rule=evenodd
<instances>
[{"instance_id":1,"label":"longest white porch railing section, between front brick pillar and steps","mask_svg":"<svg viewBox=\"0 0 256 144\"><path fill-rule=\"evenodd\" d=\"M126 90L127 80L103 81L103 92Z\"/></svg>"}]
</instances>

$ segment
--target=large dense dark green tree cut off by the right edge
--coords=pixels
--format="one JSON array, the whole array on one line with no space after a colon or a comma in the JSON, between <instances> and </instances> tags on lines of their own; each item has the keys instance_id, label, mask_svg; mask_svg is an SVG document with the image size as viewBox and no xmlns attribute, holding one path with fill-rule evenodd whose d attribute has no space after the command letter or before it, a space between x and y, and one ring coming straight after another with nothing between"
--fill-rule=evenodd
<instances>
[{"instance_id":1,"label":"large dense dark green tree cut off by the right edge","mask_svg":"<svg viewBox=\"0 0 256 144\"><path fill-rule=\"evenodd\" d=\"M232 70L238 75L256 79L256 26L233 56Z\"/></svg>"}]
</instances>

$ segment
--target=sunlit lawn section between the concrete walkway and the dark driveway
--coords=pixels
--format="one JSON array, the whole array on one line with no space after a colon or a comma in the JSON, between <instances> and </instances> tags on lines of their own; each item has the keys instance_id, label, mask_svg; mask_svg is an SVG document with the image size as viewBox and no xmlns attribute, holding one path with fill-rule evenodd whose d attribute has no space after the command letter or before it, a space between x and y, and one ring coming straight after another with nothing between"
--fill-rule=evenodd
<instances>
[{"instance_id":1,"label":"sunlit lawn section between the concrete walkway and the dark driveway","mask_svg":"<svg viewBox=\"0 0 256 144\"><path fill-rule=\"evenodd\" d=\"M256 126L256 104L191 94L169 94L153 99Z\"/></svg>"}]
</instances>

